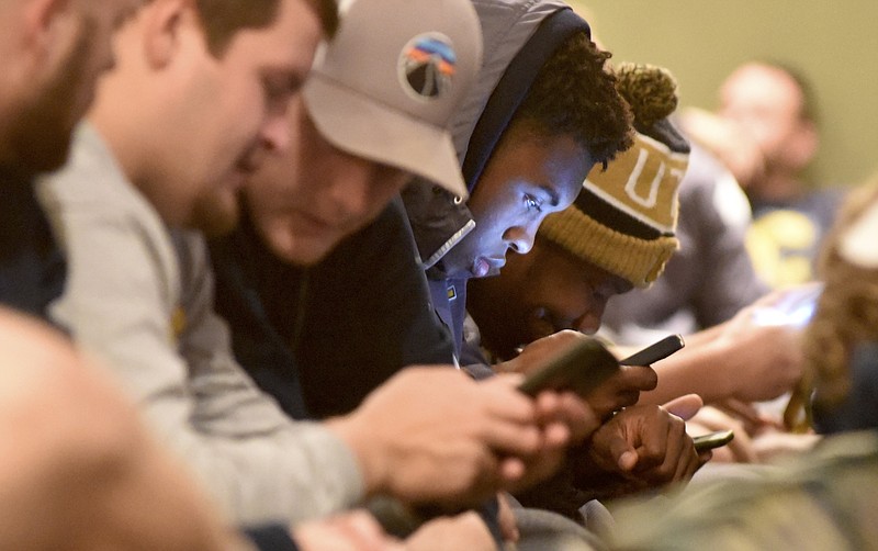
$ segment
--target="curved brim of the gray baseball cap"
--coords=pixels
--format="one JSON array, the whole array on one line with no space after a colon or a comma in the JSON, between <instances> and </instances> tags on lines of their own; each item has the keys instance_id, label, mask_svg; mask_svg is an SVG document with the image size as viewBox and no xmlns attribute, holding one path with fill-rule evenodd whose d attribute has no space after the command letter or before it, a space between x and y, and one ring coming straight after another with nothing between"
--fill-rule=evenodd
<instances>
[{"instance_id":1,"label":"curved brim of the gray baseball cap","mask_svg":"<svg viewBox=\"0 0 878 551\"><path fill-rule=\"evenodd\" d=\"M466 198L450 133L312 72L303 89L317 130L336 147L401 168Z\"/></svg>"}]
</instances>

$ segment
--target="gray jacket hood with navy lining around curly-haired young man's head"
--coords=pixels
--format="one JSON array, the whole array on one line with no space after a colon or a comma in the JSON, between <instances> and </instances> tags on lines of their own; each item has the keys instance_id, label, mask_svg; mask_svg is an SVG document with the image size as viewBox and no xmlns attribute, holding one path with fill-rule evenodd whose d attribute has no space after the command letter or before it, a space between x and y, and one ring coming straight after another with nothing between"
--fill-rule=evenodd
<instances>
[{"instance_id":1,"label":"gray jacket hood with navy lining around curly-haired young man's head","mask_svg":"<svg viewBox=\"0 0 878 551\"><path fill-rule=\"evenodd\" d=\"M470 193L530 85L554 49L588 23L559 0L473 0L484 61L451 131ZM403 192L426 268L475 227L462 198L416 179Z\"/></svg>"}]
</instances>

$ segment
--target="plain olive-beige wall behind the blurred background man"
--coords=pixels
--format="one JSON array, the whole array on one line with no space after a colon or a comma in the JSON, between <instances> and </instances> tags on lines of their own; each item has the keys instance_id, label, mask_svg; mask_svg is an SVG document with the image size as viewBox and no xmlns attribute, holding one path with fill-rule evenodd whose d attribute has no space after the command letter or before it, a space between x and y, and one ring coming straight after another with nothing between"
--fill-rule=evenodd
<instances>
[{"instance_id":1,"label":"plain olive-beige wall behind the blurred background man","mask_svg":"<svg viewBox=\"0 0 878 551\"><path fill-rule=\"evenodd\" d=\"M859 183L878 170L878 1L569 0L614 60L677 77L680 105L716 106L716 90L754 57L799 67L819 100L818 184Z\"/></svg>"}]
</instances>

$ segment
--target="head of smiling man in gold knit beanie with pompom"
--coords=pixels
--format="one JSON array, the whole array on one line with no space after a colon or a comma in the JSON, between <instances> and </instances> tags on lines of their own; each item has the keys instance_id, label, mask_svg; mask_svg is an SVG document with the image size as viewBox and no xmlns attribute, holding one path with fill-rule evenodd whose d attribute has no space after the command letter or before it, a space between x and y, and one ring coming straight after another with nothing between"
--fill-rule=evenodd
<instances>
[{"instance_id":1,"label":"head of smiling man in gold knit beanie with pompom","mask_svg":"<svg viewBox=\"0 0 878 551\"><path fill-rule=\"evenodd\" d=\"M634 147L592 170L576 202L547 217L529 255L472 282L470 314L498 359L559 330L595 334L607 301L649 286L679 246L677 190L689 148L667 119L676 83L650 66L623 64L617 76L634 113Z\"/></svg>"}]
</instances>

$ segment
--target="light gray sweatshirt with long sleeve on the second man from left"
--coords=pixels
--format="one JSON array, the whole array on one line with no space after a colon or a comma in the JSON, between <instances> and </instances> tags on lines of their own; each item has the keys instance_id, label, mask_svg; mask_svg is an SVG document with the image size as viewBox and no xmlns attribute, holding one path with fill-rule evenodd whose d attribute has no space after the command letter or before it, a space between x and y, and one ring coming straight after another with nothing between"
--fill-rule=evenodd
<instances>
[{"instance_id":1,"label":"light gray sweatshirt with long sleeve on the second man from left","mask_svg":"<svg viewBox=\"0 0 878 551\"><path fill-rule=\"evenodd\" d=\"M53 317L237 522L302 520L362 497L352 452L286 417L235 362L203 239L176 236L181 265L171 232L94 128L78 128L70 161L38 185L68 260Z\"/></svg>"}]
</instances>

